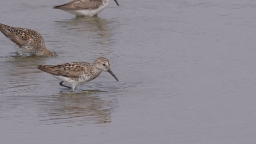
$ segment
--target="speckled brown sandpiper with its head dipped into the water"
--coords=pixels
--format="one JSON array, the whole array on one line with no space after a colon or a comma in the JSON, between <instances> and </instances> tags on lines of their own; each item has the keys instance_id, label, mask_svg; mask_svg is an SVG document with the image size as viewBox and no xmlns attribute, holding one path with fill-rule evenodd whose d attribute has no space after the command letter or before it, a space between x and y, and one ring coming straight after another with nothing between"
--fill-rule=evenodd
<instances>
[{"instance_id":1,"label":"speckled brown sandpiper with its head dipped into the water","mask_svg":"<svg viewBox=\"0 0 256 144\"><path fill-rule=\"evenodd\" d=\"M14 43L21 56L24 53L36 56L56 56L56 52L46 49L43 37L35 30L0 24L0 31Z\"/></svg>"}]
</instances>

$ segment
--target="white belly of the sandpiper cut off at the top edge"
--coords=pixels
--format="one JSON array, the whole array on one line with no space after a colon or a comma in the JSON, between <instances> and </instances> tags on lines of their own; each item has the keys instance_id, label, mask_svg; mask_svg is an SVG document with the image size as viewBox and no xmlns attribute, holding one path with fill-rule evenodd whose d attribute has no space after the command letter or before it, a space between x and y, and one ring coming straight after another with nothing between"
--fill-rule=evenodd
<instances>
[{"instance_id":1,"label":"white belly of the sandpiper cut off at the top edge","mask_svg":"<svg viewBox=\"0 0 256 144\"><path fill-rule=\"evenodd\" d=\"M64 10L66 12L69 12L71 14L75 14L77 16L94 16L104 10L108 4L105 4L104 6L100 6L96 9L84 9L84 10Z\"/></svg>"}]
</instances>

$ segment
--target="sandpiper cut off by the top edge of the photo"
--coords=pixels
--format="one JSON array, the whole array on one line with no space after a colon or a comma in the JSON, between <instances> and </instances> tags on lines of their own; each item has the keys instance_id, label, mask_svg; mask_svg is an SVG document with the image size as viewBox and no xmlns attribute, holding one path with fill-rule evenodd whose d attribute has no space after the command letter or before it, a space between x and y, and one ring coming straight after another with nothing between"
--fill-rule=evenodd
<instances>
[{"instance_id":1,"label":"sandpiper cut off by the top edge of the photo","mask_svg":"<svg viewBox=\"0 0 256 144\"><path fill-rule=\"evenodd\" d=\"M118 2L114 0L119 6ZM109 0L73 0L67 4L54 6L60 10L64 10L77 16L94 16L104 10L108 5Z\"/></svg>"}]
</instances>

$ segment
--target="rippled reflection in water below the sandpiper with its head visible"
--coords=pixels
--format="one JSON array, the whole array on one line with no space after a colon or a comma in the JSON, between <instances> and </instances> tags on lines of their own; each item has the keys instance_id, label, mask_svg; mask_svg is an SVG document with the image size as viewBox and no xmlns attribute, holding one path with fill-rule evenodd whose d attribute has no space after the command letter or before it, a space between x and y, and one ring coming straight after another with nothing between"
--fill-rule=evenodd
<instances>
[{"instance_id":1,"label":"rippled reflection in water below the sandpiper with its head visible","mask_svg":"<svg viewBox=\"0 0 256 144\"><path fill-rule=\"evenodd\" d=\"M110 123L111 112L117 107L117 100L101 98L98 94L101 92L84 90L79 93L59 93L53 96L50 102L45 100L40 103L41 122L46 124L72 122L78 125Z\"/></svg>"}]
</instances>

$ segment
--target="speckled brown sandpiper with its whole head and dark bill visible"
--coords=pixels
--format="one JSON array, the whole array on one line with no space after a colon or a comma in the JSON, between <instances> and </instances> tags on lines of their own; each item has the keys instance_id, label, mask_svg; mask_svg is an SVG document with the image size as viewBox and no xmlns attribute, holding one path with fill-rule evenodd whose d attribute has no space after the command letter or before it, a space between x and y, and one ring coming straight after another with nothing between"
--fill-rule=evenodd
<instances>
[{"instance_id":1,"label":"speckled brown sandpiper with its whole head and dark bill visible","mask_svg":"<svg viewBox=\"0 0 256 144\"><path fill-rule=\"evenodd\" d=\"M77 85L85 84L94 78L97 78L101 72L109 72L114 78L116 76L110 70L110 62L107 58L100 57L90 64L88 62L70 62L58 65L38 65L37 68L43 72L52 74L55 78L61 80L60 86L75 90ZM116 78L118 81L118 78ZM70 86L65 86L63 82Z\"/></svg>"}]
</instances>

